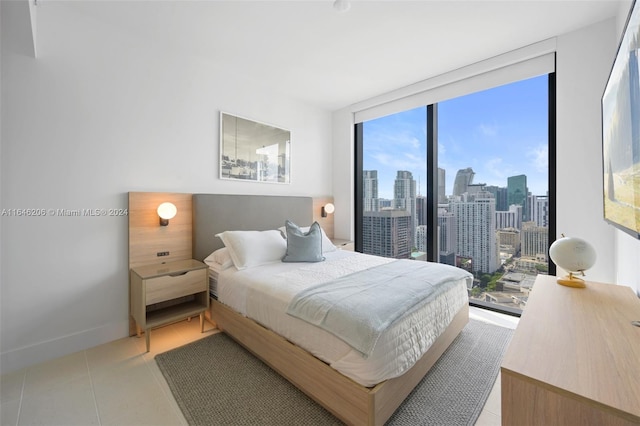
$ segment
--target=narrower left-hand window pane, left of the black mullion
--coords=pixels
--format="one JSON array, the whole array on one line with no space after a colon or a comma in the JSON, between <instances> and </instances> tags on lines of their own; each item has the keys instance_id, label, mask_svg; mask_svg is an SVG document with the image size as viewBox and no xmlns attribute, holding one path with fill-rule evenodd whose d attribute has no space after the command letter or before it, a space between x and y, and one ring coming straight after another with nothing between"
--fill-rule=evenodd
<instances>
[{"instance_id":1,"label":"narrower left-hand window pane, left of the black mullion","mask_svg":"<svg viewBox=\"0 0 640 426\"><path fill-rule=\"evenodd\" d=\"M426 106L363 123L362 252L426 259Z\"/></svg>"}]
</instances>

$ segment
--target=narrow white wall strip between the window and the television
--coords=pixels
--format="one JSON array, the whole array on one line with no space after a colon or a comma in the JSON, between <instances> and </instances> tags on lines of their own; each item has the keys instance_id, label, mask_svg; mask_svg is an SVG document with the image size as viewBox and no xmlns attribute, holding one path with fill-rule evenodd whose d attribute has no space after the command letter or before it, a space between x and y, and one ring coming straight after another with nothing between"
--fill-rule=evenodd
<instances>
[{"instance_id":1,"label":"narrow white wall strip between the window and the television","mask_svg":"<svg viewBox=\"0 0 640 426\"><path fill-rule=\"evenodd\" d=\"M601 282L615 281L614 231L602 210L600 108L615 47L615 19L557 39L556 230L594 245L586 278Z\"/></svg>"}]
</instances>

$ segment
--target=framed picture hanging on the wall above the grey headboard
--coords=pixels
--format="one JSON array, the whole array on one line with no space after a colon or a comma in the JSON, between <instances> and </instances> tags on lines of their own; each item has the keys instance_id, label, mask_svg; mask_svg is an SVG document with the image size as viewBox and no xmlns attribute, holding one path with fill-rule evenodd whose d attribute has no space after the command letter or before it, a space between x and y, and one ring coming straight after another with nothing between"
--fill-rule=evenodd
<instances>
[{"instance_id":1,"label":"framed picture hanging on the wall above the grey headboard","mask_svg":"<svg viewBox=\"0 0 640 426\"><path fill-rule=\"evenodd\" d=\"M220 179L291 182L291 131L220 112Z\"/></svg>"}]
</instances>

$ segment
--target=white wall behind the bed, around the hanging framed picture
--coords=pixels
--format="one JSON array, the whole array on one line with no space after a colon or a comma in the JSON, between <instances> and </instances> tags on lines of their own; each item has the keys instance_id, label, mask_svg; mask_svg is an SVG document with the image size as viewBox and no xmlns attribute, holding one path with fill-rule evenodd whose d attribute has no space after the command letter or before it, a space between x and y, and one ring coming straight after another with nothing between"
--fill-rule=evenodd
<instances>
[{"instance_id":1,"label":"white wall behind the bed, around the hanging framed picture","mask_svg":"<svg viewBox=\"0 0 640 426\"><path fill-rule=\"evenodd\" d=\"M28 16L28 15L27 15ZM331 195L331 113L77 14L2 2L2 208L126 208L129 191ZM218 179L220 110L292 132L290 185ZM128 333L127 217L2 217L0 366Z\"/></svg>"}]
</instances>

